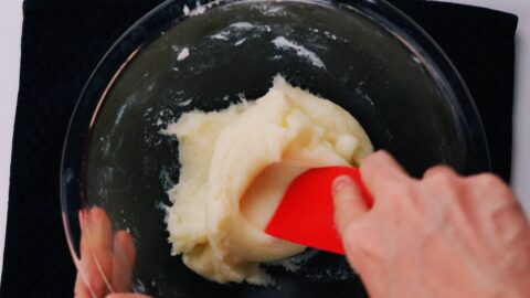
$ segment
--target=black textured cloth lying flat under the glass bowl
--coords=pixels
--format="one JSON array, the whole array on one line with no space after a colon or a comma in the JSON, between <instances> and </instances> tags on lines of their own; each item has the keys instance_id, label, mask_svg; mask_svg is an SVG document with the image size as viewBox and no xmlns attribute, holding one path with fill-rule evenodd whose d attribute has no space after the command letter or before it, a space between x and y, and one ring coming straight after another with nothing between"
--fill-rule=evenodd
<instances>
[{"instance_id":1,"label":"black textured cloth lying flat under the glass bowl","mask_svg":"<svg viewBox=\"0 0 530 298\"><path fill-rule=\"evenodd\" d=\"M25 0L8 230L0 297L72 297L75 268L59 200L63 139L75 102L112 43L161 0ZM509 180L517 17L394 0L445 50L467 82ZM9 29L8 29L9 30Z\"/></svg>"}]
</instances>

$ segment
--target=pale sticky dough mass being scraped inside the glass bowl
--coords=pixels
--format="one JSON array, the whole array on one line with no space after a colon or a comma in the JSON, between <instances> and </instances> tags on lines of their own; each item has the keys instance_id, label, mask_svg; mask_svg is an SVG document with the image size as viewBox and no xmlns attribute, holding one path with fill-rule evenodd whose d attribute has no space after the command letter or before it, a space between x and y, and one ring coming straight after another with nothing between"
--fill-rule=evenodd
<instances>
[{"instance_id":1,"label":"pale sticky dough mass being scraped inside the glass bowl","mask_svg":"<svg viewBox=\"0 0 530 298\"><path fill-rule=\"evenodd\" d=\"M263 232L289 182L308 168L357 164L372 152L359 123L276 76L255 102L191 111L167 128L181 172L169 191L172 254L218 283L269 281L259 263L305 247Z\"/></svg>"}]
</instances>

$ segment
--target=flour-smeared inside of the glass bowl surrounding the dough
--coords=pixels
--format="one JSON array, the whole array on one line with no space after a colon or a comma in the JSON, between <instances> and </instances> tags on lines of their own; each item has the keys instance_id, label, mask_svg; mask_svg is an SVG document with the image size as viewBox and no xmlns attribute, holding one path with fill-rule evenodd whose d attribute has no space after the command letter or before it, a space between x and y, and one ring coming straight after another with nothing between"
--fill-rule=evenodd
<instances>
[{"instance_id":1,"label":"flour-smeared inside of the glass bowl surrounding the dough","mask_svg":"<svg viewBox=\"0 0 530 298\"><path fill-rule=\"evenodd\" d=\"M411 174L437 163L467 171L473 152L458 98L421 49L367 13L310 1L226 2L147 32L148 41L124 58L109 83L98 82L96 72L88 84L103 84L104 92L82 98L99 105L82 152L81 205L104 207L115 228L130 231L138 291L365 297L344 258L321 252L290 259L295 272L285 262L265 265L275 287L218 285L170 256L163 205L180 166L178 141L161 131L182 113L255 99L282 74L350 111L374 147L389 150Z\"/></svg>"}]
</instances>

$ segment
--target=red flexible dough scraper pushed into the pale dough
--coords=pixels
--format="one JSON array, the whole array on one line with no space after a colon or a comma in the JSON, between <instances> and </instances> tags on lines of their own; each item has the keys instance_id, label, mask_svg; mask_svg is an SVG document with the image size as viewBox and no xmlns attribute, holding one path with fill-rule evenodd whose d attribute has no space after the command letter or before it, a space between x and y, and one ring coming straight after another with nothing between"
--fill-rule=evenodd
<instances>
[{"instance_id":1,"label":"red flexible dough scraper pushed into the pale dough","mask_svg":"<svg viewBox=\"0 0 530 298\"><path fill-rule=\"evenodd\" d=\"M359 170L351 167L326 167L307 170L287 188L268 222L265 233L282 240L344 254L333 223L331 183L347 174L356 181L371 207L373 199L362 183Z\"/></svg>"}]
</instances>

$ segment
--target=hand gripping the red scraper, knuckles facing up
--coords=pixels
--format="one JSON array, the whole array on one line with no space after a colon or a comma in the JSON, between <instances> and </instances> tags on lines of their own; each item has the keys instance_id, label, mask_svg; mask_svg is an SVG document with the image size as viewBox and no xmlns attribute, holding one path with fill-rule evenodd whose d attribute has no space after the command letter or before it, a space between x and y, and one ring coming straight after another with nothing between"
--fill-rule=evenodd
<instances>
[{"instance_id":1,"label":"hand gripping the red scraper, knuckles facing up","mask_svg":"<svg viewBox=\"0 0 530 298\"><path fill-rule=\"evenodd\" d=\"M529 222L501 180L446 167L416 180L382 151L360 171L374 205L336 179L336 225L371 297L530 297Z\"/></svg>"}]
</instances>

